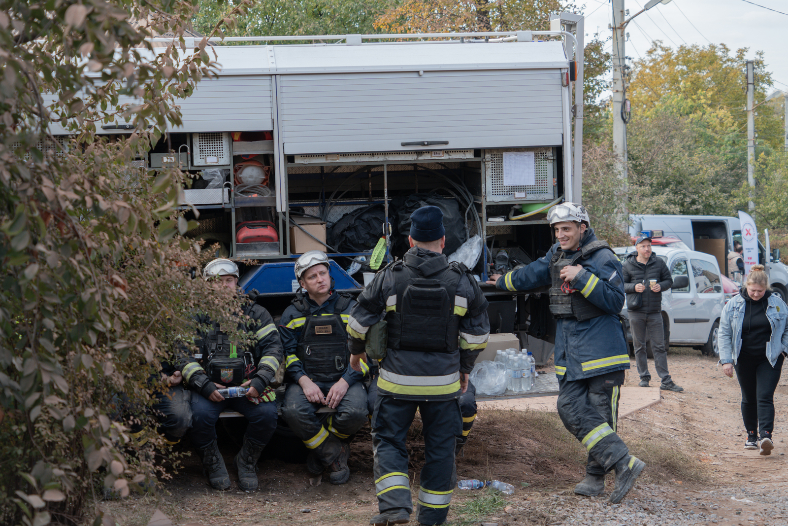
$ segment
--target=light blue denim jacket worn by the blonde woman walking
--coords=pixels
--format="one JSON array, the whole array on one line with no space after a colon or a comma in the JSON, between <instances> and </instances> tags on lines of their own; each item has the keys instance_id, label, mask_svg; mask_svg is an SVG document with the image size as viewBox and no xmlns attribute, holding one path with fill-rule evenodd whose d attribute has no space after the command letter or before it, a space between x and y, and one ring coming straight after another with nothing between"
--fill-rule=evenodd
<instances>
[{"instance_id":1,"label":"light blue denim jacket worn by the blonde woman walking","mask_svg":"<svg viewBox=\"0 0 788 526\"><path fill-rule=\"evenodd\" d=\"M788 322L788 307L774 294L767 298L767 302L766 318L771 324L771 339L766 345L766 357L774 367L780 353L788 350L788 323L786 323ZM742 351L742 322L744 321L745 307L745 299L739 294L728 301L719 317L720 364L735 364Z\"/></svg>"}]
</instances>

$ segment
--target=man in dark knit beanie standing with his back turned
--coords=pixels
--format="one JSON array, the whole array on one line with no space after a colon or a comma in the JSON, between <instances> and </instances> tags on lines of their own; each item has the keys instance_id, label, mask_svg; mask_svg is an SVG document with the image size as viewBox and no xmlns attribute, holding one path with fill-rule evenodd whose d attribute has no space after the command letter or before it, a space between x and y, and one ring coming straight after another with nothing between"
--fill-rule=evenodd
<instances>
[{"instance_id":1,"label":"man in dark knit beanie standing with his back turned","mask_svg":"<svg viewBox=\"0 0 788 526\"><path fill-rule=\"evenodd\" d=\"M388 344L380 362L372 416L376 526L404 524L413 511L407 474L407 430L422 416L425 463L420 477L420 524L442 524L456 485L455 436L462 435L459 396L476 356L487 345L487 300L470 272L443 255L443 212L411 214L411 249L377 273L348 319L351 367L361 371L370 326L385 318Z\"/></svg>"}]
</instances>

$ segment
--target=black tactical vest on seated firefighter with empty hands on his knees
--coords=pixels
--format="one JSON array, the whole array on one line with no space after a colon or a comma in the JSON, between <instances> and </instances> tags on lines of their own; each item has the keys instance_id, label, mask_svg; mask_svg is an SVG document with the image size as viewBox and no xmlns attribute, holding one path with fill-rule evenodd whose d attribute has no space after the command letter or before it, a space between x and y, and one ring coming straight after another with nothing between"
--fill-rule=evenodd
<instances>
[{"instance_id":1,"label":"black tactical vest on seated firefighter with empty hands on his knees","mask_svg":"<svg viewBox=\"0 0 788 526\"><path fill-rule=\"evenodd\" d=\"M350 360L348 333L341 313L353 297L340 294L333 314L312 315L303 293L292 304L307 318L303 324L296 356L301 360L307 376L315 382L336 382L344 374Z\"/></svg>"}]
</instances>

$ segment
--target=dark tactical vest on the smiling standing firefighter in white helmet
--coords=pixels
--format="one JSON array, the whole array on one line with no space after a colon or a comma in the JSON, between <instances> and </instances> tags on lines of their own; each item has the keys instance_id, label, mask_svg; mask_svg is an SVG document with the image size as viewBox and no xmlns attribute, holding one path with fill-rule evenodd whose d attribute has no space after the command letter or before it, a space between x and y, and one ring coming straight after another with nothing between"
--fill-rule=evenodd
<instances>
[{"instance_id":1,"label":"dark tactical vest on the smiling standing firefighter in white helmet","mask_svg":"<svg viewBox=\"0 0 788 526\"><path fill-rule=\"evenodd\" d=\"M585 244L571 258L565 257L563 250L556 249L550 259L550 275L552 276L552 287L550 288L550 312L554 318L576 318L578 321L596 318L597 316L608 314L597 305L591 303L579 290L574 293L565 293L561 290L561 285L565 282L561 278L561 269L567 265L575 265L578 259L589 259L593 252L607 248L612 252L612 248L606 241L591 241ZM566 286L569 284L567 283Z\"/></svg>"}]
</instances>

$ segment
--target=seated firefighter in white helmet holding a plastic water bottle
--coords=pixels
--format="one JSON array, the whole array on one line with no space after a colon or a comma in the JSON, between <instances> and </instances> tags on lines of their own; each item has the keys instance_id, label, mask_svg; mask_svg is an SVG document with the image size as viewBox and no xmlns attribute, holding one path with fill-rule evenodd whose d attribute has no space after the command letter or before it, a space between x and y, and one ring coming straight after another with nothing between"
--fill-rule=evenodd
<instances>
[{"instance_id":1,"label":"seated firefighter in white helmet holding a plastic water bottle","mask_svg":"<svg viewBox=\"0 0 788 526\"><path fill-rule=\"evenodd\" d=\"M238 291L238 267L229 259L214 259L203 270L206 280L217 279ZM277 428L277 405L268 386L282 360L282 344L271 315L250 298L243 306L250 321L239 326L253 334L255 341L247 349L238 349L229 341L218 323L206 315L196 315L199 324L195 355L188 353L180 363L180 371L191 394L191 443L203 458L203 468L211 487L226 490L230 478L216 443L216 423L225 409L240 412L248 426L243 447L235 457L239 487L254 491L258 487L257 461ZM210 330L203 330L206 326ZM225 398L217 390L228 386L244 386L245 397Z\"/></svg>"}]
</instances>

